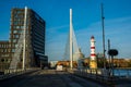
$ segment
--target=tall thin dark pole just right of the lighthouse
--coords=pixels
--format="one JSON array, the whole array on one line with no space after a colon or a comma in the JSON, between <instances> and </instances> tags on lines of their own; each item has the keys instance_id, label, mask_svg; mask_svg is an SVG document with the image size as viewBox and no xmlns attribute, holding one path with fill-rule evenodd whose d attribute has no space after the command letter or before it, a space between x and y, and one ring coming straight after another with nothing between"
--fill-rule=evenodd
<instances>
[{"instance_id":1,"label":"tall thin dark pole just right of the lighthouse","mask_svg":"<svg viewBox=\"0 0 131 87\"><path fill-rule=\"evenodd\" d=\"M105 27L104 27L104 9L102 3L102 27L103 27L103 53L104 53L104 69L106 69L106 57L105 57Z\"/></svg>"}]
</instances>

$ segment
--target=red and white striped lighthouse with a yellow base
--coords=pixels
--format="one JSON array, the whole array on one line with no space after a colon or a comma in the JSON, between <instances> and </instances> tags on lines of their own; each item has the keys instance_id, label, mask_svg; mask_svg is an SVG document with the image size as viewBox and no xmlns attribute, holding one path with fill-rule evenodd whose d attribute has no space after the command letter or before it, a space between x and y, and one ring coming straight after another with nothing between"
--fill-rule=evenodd
<instances>
[{"instance_id":1,"label":"red and white striped lighthouse with a yellow base","mask_svg":"<svg viewBox=\"0 0 131 87\"><path fill-rule=\"evenodd\" d=\"M95 53L95 38L91 37L91 60L90 60L90 69L97 69L97 60Z\"/></svg>"}]
</instances>

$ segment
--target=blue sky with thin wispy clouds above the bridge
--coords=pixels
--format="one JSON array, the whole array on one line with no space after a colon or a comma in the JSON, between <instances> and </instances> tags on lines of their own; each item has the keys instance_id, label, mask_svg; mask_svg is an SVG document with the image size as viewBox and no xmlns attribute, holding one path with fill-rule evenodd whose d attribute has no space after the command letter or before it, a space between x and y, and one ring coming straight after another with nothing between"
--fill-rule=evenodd
<instances>
[{"instance_id":1,"label":"blue sky with thin wispy clouds above the bridge","mask_svg":"<svg viewBox=\"0 0 131 87\"><path fill-rule=\"evenodd\" d=\"M90 57L90 39L103 52L100 4L104 4L105 45L117 49L117 58L131 58L131 0L0 0L0 40L9 40L11 9L28 7L46 21L46 54L62 60L70 28L70 9L78 45ZM107 52L107 51L106 51Z\"/></svg>"}]
</instances>

